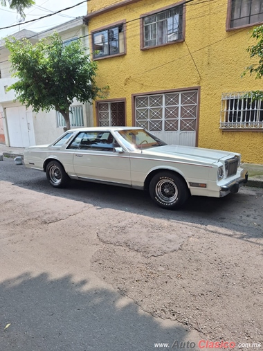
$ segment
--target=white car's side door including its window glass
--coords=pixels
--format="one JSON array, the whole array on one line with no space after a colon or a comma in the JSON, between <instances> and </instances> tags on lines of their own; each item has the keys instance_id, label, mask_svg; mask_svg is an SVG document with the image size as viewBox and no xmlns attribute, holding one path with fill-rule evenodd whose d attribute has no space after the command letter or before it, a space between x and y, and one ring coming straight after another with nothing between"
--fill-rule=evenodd
<instances>
[{"instance_id":1,"label":"white car's side door including its window glass","mask_svg":"<svg viewBox=\"0 0 263 351\"><path fill-rule=\"evenodd\" d=\"M118 147L111 132L80 132L68 149L74 149L73 167L80 179L131 185L129 153L114 152Z\"/></svg>"}]
</instances>

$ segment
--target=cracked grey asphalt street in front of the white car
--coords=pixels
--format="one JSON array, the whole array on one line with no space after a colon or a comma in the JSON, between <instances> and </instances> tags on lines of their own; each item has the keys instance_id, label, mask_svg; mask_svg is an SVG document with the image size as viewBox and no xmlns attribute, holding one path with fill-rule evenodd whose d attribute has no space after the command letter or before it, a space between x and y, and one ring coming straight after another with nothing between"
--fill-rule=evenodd
<instances>
[{"instance_id":1,"label":"cracked grey asphalt street in front of the white car","mask_svg":"<svg viewBox=\"0 0 263 351\"><path fill-rule=\"evenodd\" d=\"M169 211L139 190L54 189L4 158L0 194L0 350L262 341L262 189Z\"/></svg>"}]
</instances>

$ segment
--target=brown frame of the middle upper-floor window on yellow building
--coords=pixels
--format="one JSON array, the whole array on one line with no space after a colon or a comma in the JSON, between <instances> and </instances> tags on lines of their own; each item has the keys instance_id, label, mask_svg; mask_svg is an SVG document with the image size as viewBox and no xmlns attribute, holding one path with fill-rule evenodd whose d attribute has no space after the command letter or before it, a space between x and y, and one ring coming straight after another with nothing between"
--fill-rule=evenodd
<instances>
[{"instance_id":1,"label":"brown frame of the middle upper-floor window on yellow building","mask_svg":"<svg viewBox=\"0 0 263 351\"><path fill-rule=\"evenodd\" d=\"M179 1L178 3L173 3L172 5L169 6L165 6L163 8L158 8L158 10L154 10L151 12L146 12L143 15L140 15L140 50L141 51L145 51L145 50L149 50L152 48L158 48L160 46L167 46L167 45L171 45L171 44L177 44L177 43L181 43L185 41L185 11L186 11L186 6L185 5L185 1ZM172 42L167 42L164 44L157 44L154 46L145 46L145 42L144 42L144 34L145 34L145 30L144 30L144 19L145 17L150 17L150 16L154 16L154 15L158 15L161 12L165 12L167 10L172 10L173 8L179 7L179 6L183 6L183 13L182 13L182 32L181 32L181 38L176 39Z\"/></svg>"}]
</instances>

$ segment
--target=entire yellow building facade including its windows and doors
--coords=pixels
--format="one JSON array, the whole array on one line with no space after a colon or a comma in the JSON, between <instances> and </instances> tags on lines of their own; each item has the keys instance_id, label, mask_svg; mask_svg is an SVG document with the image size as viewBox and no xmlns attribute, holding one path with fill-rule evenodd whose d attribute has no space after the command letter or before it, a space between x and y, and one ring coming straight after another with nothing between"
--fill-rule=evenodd
<instances>
[{"instance_id":1,"label":"entire yellow building facade including its windows and doors","mask_svg":"<svg viewBox=\"0 0 263 351\"><path fill-rule=\"evenodd\" d=\"M179 143L240 152L263 163L263 104L246 93L260 80L242 73L263 21L257 1L90 0L97 83L94 125L137 125Z\"/></svg>"}]
</instances>

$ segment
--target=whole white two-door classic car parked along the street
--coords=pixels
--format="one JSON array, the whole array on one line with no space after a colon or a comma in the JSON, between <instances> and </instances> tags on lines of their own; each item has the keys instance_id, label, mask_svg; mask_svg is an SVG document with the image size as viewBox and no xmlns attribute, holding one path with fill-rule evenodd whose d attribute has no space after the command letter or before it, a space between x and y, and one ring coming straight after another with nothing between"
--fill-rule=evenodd
<instances>
[{"instance_id":1,"label":"whole white two-door classic car parked along the street","mask_svg":"<svg viewBox=\"0 0 263 351\"><path fill-rule=\"evenodd\" d=\"M167 145L139 127L70 129L51 145L26 148L27 168L44 170L55 188L70 179L149 190L162 208L189 195L224 197L246 183L240 154Z\"/></svg>"}]
</instances>

